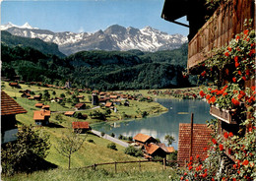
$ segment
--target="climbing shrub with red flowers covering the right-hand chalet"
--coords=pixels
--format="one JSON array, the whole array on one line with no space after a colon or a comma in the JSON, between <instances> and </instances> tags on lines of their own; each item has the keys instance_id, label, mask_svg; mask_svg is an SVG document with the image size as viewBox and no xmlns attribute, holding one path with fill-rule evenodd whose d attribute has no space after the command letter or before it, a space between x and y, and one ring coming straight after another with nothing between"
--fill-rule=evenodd
<instances>
[{"instance_id":1,"label":"climbing shrub with red flowers covering the right-hand chalet","mask_svg":"<svg viewBox=\"0 0 256 181\"><path fill-rule=\"evenodd\" d=\"M219 87L220 81L226 82L222 88L200 91L200 96L211 105L234 112L243 102L244 109L237 114L246 113L246 117L239 119L239 128L247 130L243 134L239 130L220 135L219 121L212 120L215 134L207 158L203 161L200 156L191 158L180 180L256 180L256 91L255 87L244 88L245 81L255 75L255 31L237 34L228 46L218 49L201 66L204 68L201 77L219 80ZM224 168L226 155L231 159L227 158L229 167Z\"/></svg>"}]
</instances>

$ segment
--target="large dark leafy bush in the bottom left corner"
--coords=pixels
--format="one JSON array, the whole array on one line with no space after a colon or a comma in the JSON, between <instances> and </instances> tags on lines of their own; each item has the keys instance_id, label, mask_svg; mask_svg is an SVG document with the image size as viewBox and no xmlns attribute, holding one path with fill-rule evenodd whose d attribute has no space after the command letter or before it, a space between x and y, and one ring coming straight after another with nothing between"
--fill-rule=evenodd
<instances>
[{"instance_id":1,"label":"large dark leafy bush in the bottom left corner","mask_svg":"<svg viewBox=\"0 0 256 181\"><path fill-rule=\"evenodd\" d=\"M17 142L1 148L2 172L35 171L42 166L40 161L46 157L49 149L49 135L23 126L17 134Z\"/></svg>"}]
</instances>

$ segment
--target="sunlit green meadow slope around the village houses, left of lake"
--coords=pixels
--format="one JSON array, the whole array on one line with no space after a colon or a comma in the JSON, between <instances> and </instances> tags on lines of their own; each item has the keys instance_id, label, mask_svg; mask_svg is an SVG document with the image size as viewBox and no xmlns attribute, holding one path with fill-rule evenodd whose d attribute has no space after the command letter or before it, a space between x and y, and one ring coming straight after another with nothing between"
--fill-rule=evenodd
<instances>
[{"instance_id":1,"label":"sunlit green meadow slope around the village houses, left of lake","mask_svg":"<svg viewBox=\"0 0 256 181\"><path fill-rule=\"evenodd\" d=\"M69 97L67 91L63 90L52 90L42 87L36 86L28 86L28 85L21 85L22 89L13 89L11 88L8 83L3 82L2 90L6 91L12 97L15 97L16 101L23 106L28 113L26 114L19 114L16 116L19 125L33 125L34 121L32 119L33 111L39 110L38 108L34 107L34 104L37 102L36 100L29 100L27 98L22 98L19 91L21 90L32 90L35 94L39 92L43 93L44 90L48 90L50 92L51 97L60 96L61 93L65 93L66 97ZM55 95L52 92L55 91ZM128 92L129 93L129 92ZM89 102L89 94L87 93L80 93L85 95L85 100ZM42 101L44 102L44 101ZM71 104L66 104L62 106L56 102L44 102L44 104L50 104L50 110L54 111L66 111L66 110L73 110ZM87 103L90 104L90 103ZM90 108L93 106L90 105ZM165 111L165 107L161 106L157 102L144 102L144 101L137 101L137 100L130 100L130 106L126 107L123 105L117 106L118 112L112 112L109 117L107 117L107 121L114 121L123 119L123 115L125 114L128 117L133 118L140 118L141 112L147 111L150 115L157 115L160 112ZM104 108L97 108L96 110L104 112ZM82 111L83 114L90 114L92 109L87 109ZM56 116L61 114L61 120L57 120ZM64 157L63 155L59 154L56 150L57 141L59 138L63 136L67 131L70 131L67 128L70 128L72 121L78 121L77 118L74 117L66 117L63 113L52 113L50 122L55 123L56 125L62 126L59 127L34 127L34 129L38 129L41 132L48 134L50 136L50 143L51 148L49 150L48 155L46 156L45 160L55 164L58 166L57 169L50 170L50 171L38 171L32 173L31 175L26 174L17 174L14 177L4 177L4 180L136 180L139 179L143 180L143 178L153 178L153 180L158 180L157 177L164 179L168 179L169 174L173 174L171 169L168 168L168 171L164 171L164 176L161 174L162 165L160 163L142 163L142 172L138 172L138 163L128 163L128 164L118 164L118 173L114 174L114 165L104 165L98 166L97 171L92 170L81 170L75 168L81 168L88 165L92 165L95 163L102 163L102 162L113 162L113 161L129 161L129 160L138 160L139 158L130 156L124 153L124 148L116 145L117 151L113 151L107 149L107 145L110 141L101 139L96 137L93 134L81 134L81 137L86 137L86 141L84 142L82 148L72 154L71 159L71 168L72 170L67 170L68 168L68 158ZM89 121L91 124L102 121L97 119L92 119L90 116L86 120ZM94 140L94 143L89 143L88 140ZM142 159L142 158L140 158ZM140 175L140 176L138 176ZM3 176L3 175L2 175ZM125 176L125 177L124 177ZM156 177L156 178L155 178ZM164 178L163 178L164 177ZM67 179L68 178L68 179Z\"/></svg>"}]
</instances>

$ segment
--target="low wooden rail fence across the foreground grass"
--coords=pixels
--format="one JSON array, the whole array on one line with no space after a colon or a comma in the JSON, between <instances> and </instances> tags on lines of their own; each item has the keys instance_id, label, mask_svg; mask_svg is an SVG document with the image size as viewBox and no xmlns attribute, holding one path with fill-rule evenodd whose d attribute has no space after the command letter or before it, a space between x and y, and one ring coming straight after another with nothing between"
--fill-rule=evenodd
<instances>
[{"instance_id":1,"label":"low wooden rail fence across the foreground grass","mask_svg":"<svg viewBox=\"0 0 256 181\"><path fill-rule=\"evenodd\" d=\"M138 167L139 167L139 170L141 171L141 169L142 169L141 168L141 163L143 163L143 162L162 162L163 169L165 169L166 168L166 162L168 162L168 163L176 163L177 161L176 160L166 160L165 158L157 159L157 160L114 161L114 162L95 163L95 164L92 164L92 165L89 165L89 166L82 167L82 169L83 168L93 168L93 169L96 169L96 166L107 165L107 164L114 164L114 171L115 171L115 173L117 173L117 164L139 163Z\"/></svg>"}]
</instances>

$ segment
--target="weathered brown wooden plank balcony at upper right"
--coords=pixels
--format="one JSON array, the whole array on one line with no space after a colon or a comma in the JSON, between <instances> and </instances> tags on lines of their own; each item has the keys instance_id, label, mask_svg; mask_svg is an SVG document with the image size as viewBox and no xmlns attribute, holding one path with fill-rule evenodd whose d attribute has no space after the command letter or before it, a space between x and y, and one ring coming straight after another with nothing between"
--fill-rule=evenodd
<instances>
[{"instance_id":1,"label":"weathered brown wooden plank balcony at upper right","mask_svg":"<svg viewBox=\"0 0 256 181\"><path fill-rule=\"evenodd\" d=\"M255 0L231 0L222 4L189 42L188 70L191 72L199 63L212 56L214 48L228 44L235 34L245 30L246 19L253 19L252 26L255 28L254 12Z\"/></svg>"}]
</instances>

